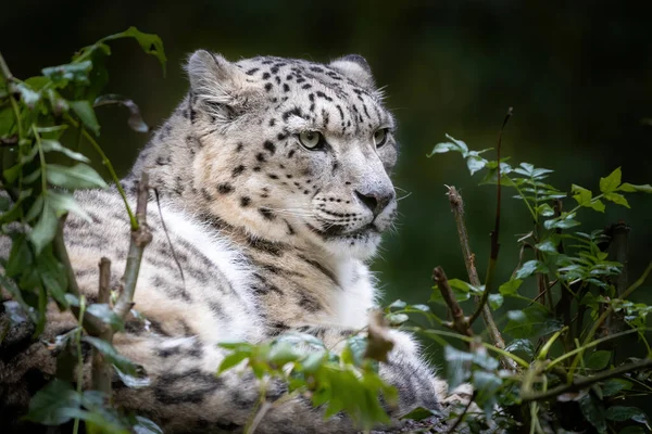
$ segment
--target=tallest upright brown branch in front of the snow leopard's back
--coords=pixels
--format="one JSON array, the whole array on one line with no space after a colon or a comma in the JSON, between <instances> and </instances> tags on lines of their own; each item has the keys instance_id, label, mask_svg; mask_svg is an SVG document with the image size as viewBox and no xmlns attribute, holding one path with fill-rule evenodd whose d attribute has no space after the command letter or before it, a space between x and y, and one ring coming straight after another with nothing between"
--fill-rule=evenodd
<instances>
[{"instance_id":1,"label":"tallest upright brown branch in front of the snow leopard's back","mask_svg":"<svg viewBox=\"0 0 652 434\"><path fill-rule=\"evenodd\" d=\"M140 263L145 247L152 241L152 233L147 225L147 203L149 196L149 176L142 173L138 184L138 200L136 203L136 220L138 226L131 230L131 242L127 254L127 265L122 278L122 292L115 303L113 311L121 318L125 318L134 305L134 292L140 271Z\"/></svg>"}]
</instances>

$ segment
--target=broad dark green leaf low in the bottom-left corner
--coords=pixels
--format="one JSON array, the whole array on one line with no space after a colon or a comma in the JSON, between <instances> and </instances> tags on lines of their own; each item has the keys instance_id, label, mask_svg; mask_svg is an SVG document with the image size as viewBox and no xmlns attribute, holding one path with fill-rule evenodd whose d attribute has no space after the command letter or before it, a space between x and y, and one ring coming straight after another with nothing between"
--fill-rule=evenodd
<instances>
[{"instance_id":1,"label":"broad dark green leaf low in the bottom-left corner","mask_svg":"<svg viewBox=\"0 0 652 434\"><path fill-rule=\"evenodd\" d=\"M34 395L26 419L43 425L61 425L73 419L78 410L79 395L70 383L54 380Z\"/></svg>"}]
</instances>

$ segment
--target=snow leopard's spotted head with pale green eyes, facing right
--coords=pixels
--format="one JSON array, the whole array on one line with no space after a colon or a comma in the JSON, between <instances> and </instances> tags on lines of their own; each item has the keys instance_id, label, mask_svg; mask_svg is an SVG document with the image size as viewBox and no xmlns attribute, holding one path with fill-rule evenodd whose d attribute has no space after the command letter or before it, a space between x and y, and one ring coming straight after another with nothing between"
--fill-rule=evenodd
<instances>
[{"instance_id":1,"label":"snow leopard's spotted head with pale green eyes, facing right","mask_svg":"<svg viewBox=\"0 0 652 434\"><path fill-rule=\"evenodd\" d=\"M397 214L394 120L366 61L281 58L187 66L205 206L260 238L367 258Z\"/></svg>"}]
</instances>

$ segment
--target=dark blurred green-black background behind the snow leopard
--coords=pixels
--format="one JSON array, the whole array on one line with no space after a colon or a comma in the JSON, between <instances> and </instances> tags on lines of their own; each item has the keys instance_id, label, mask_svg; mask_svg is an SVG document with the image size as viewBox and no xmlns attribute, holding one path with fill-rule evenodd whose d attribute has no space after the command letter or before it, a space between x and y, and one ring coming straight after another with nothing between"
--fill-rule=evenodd
<instances>
[{"instance_id":1,"label":"dark blurred green-black background behind the snow leopard","mask_svg":"<svg viewBox=\"0 0 652 434\"><path fill-rule=\"evenodd\" d=\"M427 158L444 133L480 150L503 141L512 163L554 169L549 181L598 190L618 166L624 180L652 181L652 2L475 1L4 1L0 50L17 77L65 63L97 39L137 26L165 43L164 78L153 56L131 40L112 43L108 93L129 95L151 126L160 125L187 90L181 64L199 48L237 60L256 54L328 61L366 58L386 86L402 144L396 184L399 230L374 263L385 299L423 303L432 267L466 279L444 184L461 189L472 247L485 273L494 188L478 187L459 155ZM100 142L126 174L147 135L129 130L126 112L100 110ZM511 192L507 192L511 193ZM527 210L505 194L499 278L516 264L517 237L530 230ZM652 196L630 195L632 209L607 204L584 210L580 229L619 219L631 225L631 280L652 259ZM569 206L569 205L568 205ZM648 288L651 288L648 284ZM637 297L652 303L650 291ZM504 323L504 318L499 318ZM632 341L636 345L636 340Z\"/></svg>"}]
</instances>

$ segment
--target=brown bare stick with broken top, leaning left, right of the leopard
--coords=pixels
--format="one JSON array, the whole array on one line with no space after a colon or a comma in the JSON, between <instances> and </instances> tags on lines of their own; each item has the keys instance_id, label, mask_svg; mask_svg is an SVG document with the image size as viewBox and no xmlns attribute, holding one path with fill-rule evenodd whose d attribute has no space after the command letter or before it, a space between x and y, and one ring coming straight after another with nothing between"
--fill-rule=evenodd
<instances>
[{"instance_id":1,"label":"brown bare stick with broken top, leaning left, right of the leopard","mask_svg":"<svg viewBox=\"0 0 652 434\"><path fill-rule=\"evenodd\" d=\"M449 187L448 199L451 203L451 209L453 212L453 216L455 218L455 224L457 226L457 235L460 237L460 245L462 246L462 255L464 256L464 264L466 265L466 272L468 273L468 280L472 285L479 288L481 285L480 278L478 277L478 271L475 265L475 255L471 251L471 243L468 241L468 232L466 231L466 224L464 221L464 201L462 200L462 195L455 189L455 187ZM480 297L475 296L476 306L480 303ZM485 324L487 326L487 330L489 331L489 335L493 344L504 349L505 341L503 340L500 331L498 330L498 326L493 320L493 315L491 315L491 309L489 309L488 305L484 305L482 308L482 319L485 320ZM501 357L501 362L503 367L511 370L517 370L518 366L514 362L514 360L507 357Z\"/></svg>"}]
</instances>

